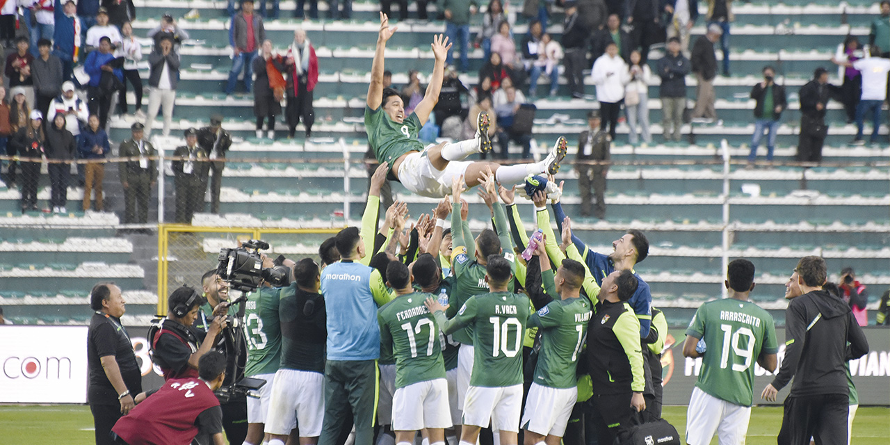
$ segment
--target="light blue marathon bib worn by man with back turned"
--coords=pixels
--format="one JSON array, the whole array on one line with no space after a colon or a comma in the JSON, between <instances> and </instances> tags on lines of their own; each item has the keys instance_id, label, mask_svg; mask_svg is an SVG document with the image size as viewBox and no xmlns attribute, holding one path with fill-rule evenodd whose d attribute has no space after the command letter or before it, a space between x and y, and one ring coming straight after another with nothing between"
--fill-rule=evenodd
<instances>
[{"instance_id":1,"label":"light blue marathon bib worn by man with back turned","mask_svg":"<svg viewBox=\"0 0 890 445\"><path fill-rule=\"evenodd\" d=\"M328 360L380 358L372 279L380 281L380 272L360 263L333 263L321 272L321 295L328 310Z\"/></svg>"}]
</instances>

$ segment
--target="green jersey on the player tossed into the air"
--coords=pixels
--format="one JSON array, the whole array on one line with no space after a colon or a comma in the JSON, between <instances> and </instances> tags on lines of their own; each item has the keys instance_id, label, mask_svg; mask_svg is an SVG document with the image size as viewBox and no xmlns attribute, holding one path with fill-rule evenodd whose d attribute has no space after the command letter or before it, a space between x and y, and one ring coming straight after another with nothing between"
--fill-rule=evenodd
<instances>
[{"instance_id":1,"label":"green jersey on the player tossed into the air","mask_svg":"<svg viewBox=\"0 0 890 445\"><path fill-rule=\"evenodd\" d=\"M386 115L383 106L370 109L365 105L365 131L368 133L368 144L374 150L377 161L388 162L390 168L392 162L401 155L424 150L424 143L417 139L417 134L423 126L415 113L411 113L399 124Z\"/></svg>"}]
</instances>

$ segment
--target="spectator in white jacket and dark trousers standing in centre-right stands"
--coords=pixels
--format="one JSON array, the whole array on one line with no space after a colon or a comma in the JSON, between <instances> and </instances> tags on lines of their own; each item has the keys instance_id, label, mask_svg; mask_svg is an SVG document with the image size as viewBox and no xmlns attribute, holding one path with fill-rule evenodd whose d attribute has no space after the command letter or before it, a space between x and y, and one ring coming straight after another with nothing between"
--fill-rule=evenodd
<instances>
[{"instance_id":1,"label":"spectator in white jacket and dark trousers standing in centre-right stands","mask_svg":"<svg viewBox=\"0 0 890 445\"><path fill-rule=\"evenodd\" d=\"M605 130L609 125L610 141L614 141L625 85L630 81L627 63L619 57L617 44L610 42L606 45L606 52L594 62L592 76L596 85L596 99L600 101L600 116L603 117L600 129Z\"/></svg>"}]
</instances>

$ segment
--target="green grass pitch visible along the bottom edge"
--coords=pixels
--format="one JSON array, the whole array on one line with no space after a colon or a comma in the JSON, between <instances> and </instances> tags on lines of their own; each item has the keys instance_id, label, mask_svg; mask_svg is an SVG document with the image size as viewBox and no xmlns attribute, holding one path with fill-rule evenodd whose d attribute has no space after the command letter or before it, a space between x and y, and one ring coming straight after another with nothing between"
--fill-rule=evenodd
<instances>
[{"instance_id":1,"label":"green grass pitch visible along the bottom edge","mask_svg":"<svg viewBox=\"0 0 890 445\"><path fill-rule=\"evenodd\" d=\"M686 407L664 408L664 417L684 435ZM751 411L748 445L776 442L781 425L781 407L756 407ZM90 445L93 415L83 405L4 405L0 406L0 443L32 445L66 443ZM60 441L61 440L61 441ZM853 425L854 445L878 445L890 441L890 408L861 407ZM711 443L716 444L716 439Z\"/></svg>"}]
</instances>

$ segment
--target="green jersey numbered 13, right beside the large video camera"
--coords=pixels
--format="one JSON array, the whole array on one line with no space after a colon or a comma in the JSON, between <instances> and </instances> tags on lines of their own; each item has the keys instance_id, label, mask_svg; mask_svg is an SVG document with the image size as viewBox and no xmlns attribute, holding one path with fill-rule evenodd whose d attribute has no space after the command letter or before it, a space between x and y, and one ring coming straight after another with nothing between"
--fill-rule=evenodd
<instances>
[{"instance_id":1,"label":"green jersey numbered 13, right beside the large video camera","mask_svg":"<svg viewBox=\"0 0 890 445\"><path fill-rule=\"evenodd\" d=\"M247 294L245 326L247 366L245 376L274 374L281 362L280 289L261 287Z\"/></svg>"}]
</instances>

